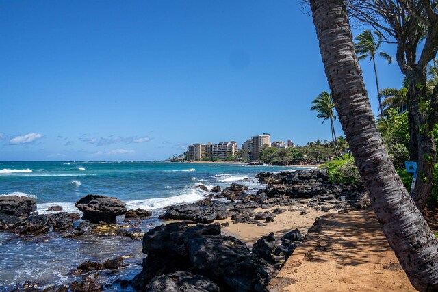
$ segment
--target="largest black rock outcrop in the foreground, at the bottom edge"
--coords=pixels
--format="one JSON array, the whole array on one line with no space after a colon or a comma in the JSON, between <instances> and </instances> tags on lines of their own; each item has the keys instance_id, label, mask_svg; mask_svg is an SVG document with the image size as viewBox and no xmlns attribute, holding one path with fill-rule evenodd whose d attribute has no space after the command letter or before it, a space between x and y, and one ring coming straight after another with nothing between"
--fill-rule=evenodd
<instances>
[{"instance_id":1,"label":"largest black rock outcrop in the foreground, at the bottom edge","mask_svg":"<svg viewBox=\"0 0 438 292\"><path fill-rule=\"evenodd\" d=\"M210 287L194 291L218 291L216 286L220 291L263 291L276 274L273 265L251 254L242 241L220 235L219 224L157 226L144 234L142 246L147 257L133 279L137 291L155 291L151 289L159 283L172 284L179 291L187 284L180 277L198 278ZM170 275L177 280L168 282Z\"/></svg>"}]
</instances>

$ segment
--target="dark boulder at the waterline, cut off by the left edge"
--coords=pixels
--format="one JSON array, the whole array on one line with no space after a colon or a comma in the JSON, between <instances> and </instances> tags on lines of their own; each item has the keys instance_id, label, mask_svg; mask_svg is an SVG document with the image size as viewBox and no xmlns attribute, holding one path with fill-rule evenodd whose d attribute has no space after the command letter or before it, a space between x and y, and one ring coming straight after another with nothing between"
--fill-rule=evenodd
<instances>
[{"instance_id":1,"label":"dark boulder at the waterline, cut off by the left edge","mask_svg":"<svg viewBox=\"0 0 438 292\"><path fill-rule=\"evenodd\" d=\"M18 196L0 196L0 213L12 216L30 215L36 211L34 198Z\"/></svg>"}]
</instances>

